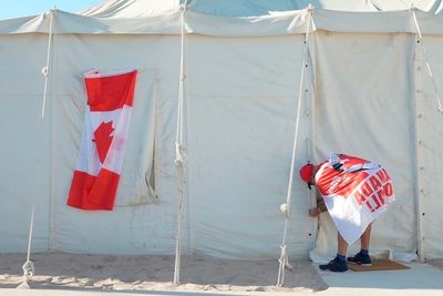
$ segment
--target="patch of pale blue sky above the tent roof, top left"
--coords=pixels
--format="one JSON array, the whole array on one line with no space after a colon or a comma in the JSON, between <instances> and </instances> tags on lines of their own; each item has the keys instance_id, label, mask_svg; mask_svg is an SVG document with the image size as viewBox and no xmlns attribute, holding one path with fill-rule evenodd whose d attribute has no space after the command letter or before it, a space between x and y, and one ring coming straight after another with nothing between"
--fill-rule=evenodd
<instances>
[{"instance_id":1,"label":"patch of pale blue sky above the tent roof, top left","mask_svg":"<svg viewBox=\"0 0 443 296\"><path fill-rule=\"evenodd\" d=\"M104 0L7 0L1 1L0 20L39 14L54 6L68 12L76 12Z\"/></svg>"}]
</instances>

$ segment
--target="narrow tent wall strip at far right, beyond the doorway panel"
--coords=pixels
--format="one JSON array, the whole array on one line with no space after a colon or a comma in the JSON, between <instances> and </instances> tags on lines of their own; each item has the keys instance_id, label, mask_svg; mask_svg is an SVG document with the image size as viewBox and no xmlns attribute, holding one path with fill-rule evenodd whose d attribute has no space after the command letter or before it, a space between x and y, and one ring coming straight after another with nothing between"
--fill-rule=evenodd
<instances>
[{"instance_id":1,"label":"narrow tent wall strip at far right, beyond the doorway panel","mask_svg":"<svg viewBox=\"0 0 443 296\"><path fill-rule=\"evenodd\" d=\"M430 61L434 73L437 92L442 96L443 88L443 57L441 53L441 38L425 37L424 44L426 54L418 47L414 71L415 71L415 104L416 104L416 126L419 145L416 147L418 157L418 195L421 196L421 204L418 218L421 220L422 228L419 239L424 244L425 258L439 257L442 239L436 237L442 225L441 213L442 203L434 196L441 196L442 183L437 182L441 176L441 147L443 130L441 125L442 114L429 112L437 106L435 91L426 71L426 60Z\"/></svg>"}]
</instances>

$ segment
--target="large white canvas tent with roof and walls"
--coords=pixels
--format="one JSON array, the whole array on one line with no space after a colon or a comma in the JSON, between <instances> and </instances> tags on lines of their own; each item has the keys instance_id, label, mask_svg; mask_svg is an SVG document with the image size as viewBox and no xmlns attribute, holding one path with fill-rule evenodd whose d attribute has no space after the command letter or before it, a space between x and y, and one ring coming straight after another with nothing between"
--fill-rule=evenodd
<instances>
[{"instance_id":1,"label":"large white canvas tent with roof and walls","mask_svg":"<svg viewBox=\"0 0 443 296\"><path fill-rule=\"evenodd\" d=\"M279 256L312 3L289 257L336 252L331 221L322 215L318 228L308 217L315 196L297 177L302 163L332 151L377 161L393 178L398 201L375 222L371 252L443 257L443 2L405 2L188 1L184 253ZM35 204L34 252L174 254L181 16L178 0L113 0L0 21L0 252L27 249ZM71 208L82 73L128 68L140 76L117 206Z\"/></svg>"}]
</instances>

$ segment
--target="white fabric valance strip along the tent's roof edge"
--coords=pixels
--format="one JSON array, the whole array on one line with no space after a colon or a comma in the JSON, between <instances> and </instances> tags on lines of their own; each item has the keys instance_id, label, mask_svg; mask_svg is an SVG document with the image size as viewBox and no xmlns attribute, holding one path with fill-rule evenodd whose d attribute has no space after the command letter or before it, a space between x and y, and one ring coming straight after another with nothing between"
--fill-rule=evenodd
<instances>
[{"instance_id":1,"label":"white fabric valance strip along the tent's roof edge","mask_svg":"<svg viewBox=\"0 0 443 296\"><path fill-rule=\"evenodd\" d=\"M125 18L84 17L53 10L54 34L179 34L181 11L168 10L156 16ZM49 32L49 14L0 21L0 34ZM218 17L186 11L186 32L220 37L282 35L303 33L308 11L272 12L258 17ZM443 34L442 14L416 11L423 34ZM333 32L409 32L416 33L409 10L385 12L350 12L315 10L313 30Z\"/></svg>"}]
</instances>

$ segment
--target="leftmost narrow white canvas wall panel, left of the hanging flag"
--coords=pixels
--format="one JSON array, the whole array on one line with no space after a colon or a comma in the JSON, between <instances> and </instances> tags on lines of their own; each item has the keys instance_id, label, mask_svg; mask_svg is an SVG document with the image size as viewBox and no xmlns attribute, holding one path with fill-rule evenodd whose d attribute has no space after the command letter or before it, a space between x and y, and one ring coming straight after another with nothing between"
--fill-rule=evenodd
<instances>
[{"instance_id":1,"label":"leftmost narrow white canvas wall panel, left of the hanging flag","mask_svg":"<svg viewBox=\"0 0 443 296\"><path fill-rule=\"evenodd\" d=\"M51 123L41 119L47 42L40 34L0 37L1 252L27 249L32 204L38 212L33 246L49 248Z\"/></svg>"}]
</instances>

